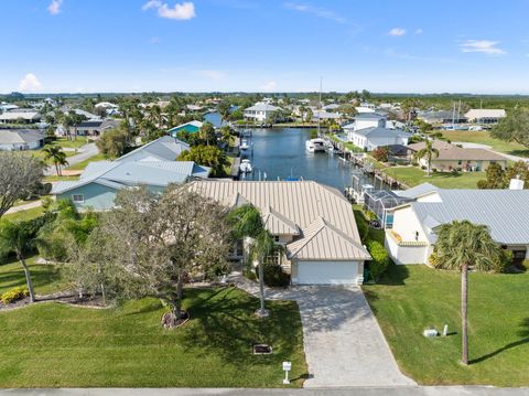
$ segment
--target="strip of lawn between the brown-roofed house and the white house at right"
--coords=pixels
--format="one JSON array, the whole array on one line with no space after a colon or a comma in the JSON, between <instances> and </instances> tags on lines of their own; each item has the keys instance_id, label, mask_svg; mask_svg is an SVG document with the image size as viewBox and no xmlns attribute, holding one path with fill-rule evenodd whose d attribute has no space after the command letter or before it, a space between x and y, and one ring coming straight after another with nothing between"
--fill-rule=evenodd
<instances>
[{"instance_id":1,"label":"strip of lawn between the brown-roofed house and the white house at right","mask_svg":"<svg viewBox=\"0 0 529 396\"><path fill-rule=\"evenodd\" d=\"M486 178L485 172L432 172L428 176L427 172L417 167L390 167L385 173L410 188L428 182L441 189L477 189L477 182Z\"/></svg>"}]
</instances>

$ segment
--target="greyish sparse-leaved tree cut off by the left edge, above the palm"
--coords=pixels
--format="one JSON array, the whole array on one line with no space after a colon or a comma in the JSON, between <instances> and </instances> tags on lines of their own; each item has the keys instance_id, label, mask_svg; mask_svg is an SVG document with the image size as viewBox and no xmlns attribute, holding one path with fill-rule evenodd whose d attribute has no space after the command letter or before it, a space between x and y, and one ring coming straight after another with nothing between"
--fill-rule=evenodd
<instances>
[{"instance_id":1,"label":"greyish sparse-leaved tree cut off by the left edge, above the palm","mask_svg":"<svg viewBox=\"0 0 529 396\"><path fill-rule=\"evenodd\" d=\"M42 189L44 163L35 157L0 151L0 217L14 205Z\"/></svg>"}]
</instances>

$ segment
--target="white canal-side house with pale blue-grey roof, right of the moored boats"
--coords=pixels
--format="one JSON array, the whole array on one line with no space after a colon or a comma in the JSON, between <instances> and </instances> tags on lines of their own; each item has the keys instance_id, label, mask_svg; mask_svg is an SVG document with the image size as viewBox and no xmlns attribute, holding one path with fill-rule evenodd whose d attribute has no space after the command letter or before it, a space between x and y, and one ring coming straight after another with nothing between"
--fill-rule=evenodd
<instances>
[{"instance_id":1,"label":"white canal-side house with pale blue-grey roof, right of the moored boats","mask_svg":"<svg viewBox=\"0 0 529 396\"><path fill-rule=\"evenodd\" d=\"M410 137L411 133L403 130L382 127L369 127L347 132L348 140L366 151L376 150L379 146L407 146Z\"/></svg>"}]
</instances>

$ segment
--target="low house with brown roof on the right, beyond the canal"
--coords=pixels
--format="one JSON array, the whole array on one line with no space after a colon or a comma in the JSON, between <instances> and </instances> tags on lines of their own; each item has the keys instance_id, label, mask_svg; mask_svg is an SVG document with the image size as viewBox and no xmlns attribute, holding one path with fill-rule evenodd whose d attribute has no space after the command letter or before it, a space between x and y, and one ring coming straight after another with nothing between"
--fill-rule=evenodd
<instances>
[{"instance_id":1,"label":"low house with brown roof on the right, beyond the canal","mask_svg":"<svg viewBox=\"0 0 529 396\"><path fill-rule=\"evenodd\" d=\"M432 158L431 168L440 171L486 171L490 163L499 163L501 169L507 167L507 159L485 149L463 149L441 140L432 142L434 149L439 151L439 156ZM409 145L410 156L422 150L425 142ZM421 167L428 167L425 158L418 160Z\"/></svg>"}]
</instances>

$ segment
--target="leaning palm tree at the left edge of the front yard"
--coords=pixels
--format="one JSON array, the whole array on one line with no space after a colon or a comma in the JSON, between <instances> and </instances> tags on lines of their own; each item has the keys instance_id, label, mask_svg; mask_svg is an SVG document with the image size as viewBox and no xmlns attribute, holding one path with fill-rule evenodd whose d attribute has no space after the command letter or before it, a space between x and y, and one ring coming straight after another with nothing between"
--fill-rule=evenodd
<instances>
[{"instance_id":1,"label":"leaning palm tree at the left edge of the front yard","mask_svg":"<svg viewBox=\"0 0 529 396\"><path fill-rule=\"evenodd\" d=\"M25 274L25 283L30 292L30 301L35 302L35 292L33 291L33 283L31 281L30 269L25 263L25 253L31 249L34 240L32 240L28 228L20 223L12 223L8 220L2 220L0 224L0 247L3 251L14 251L17 259L22 265Z\"/></svg>"}]
</instances>

